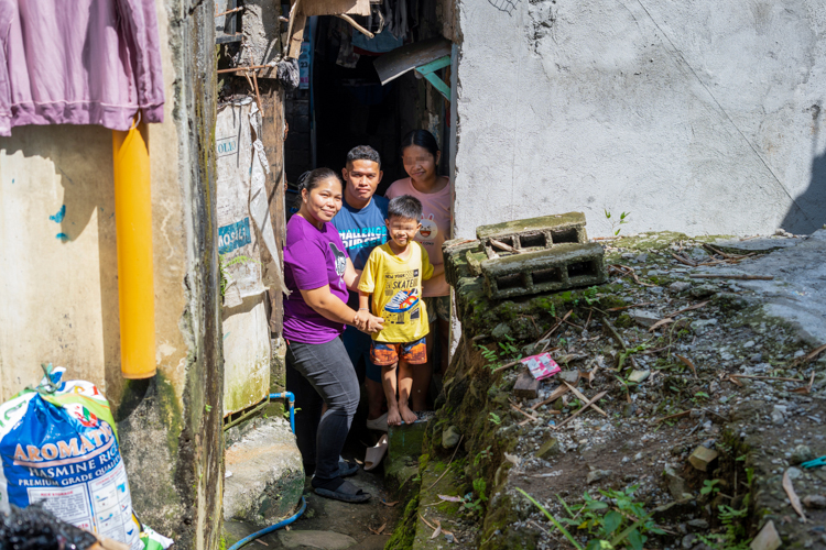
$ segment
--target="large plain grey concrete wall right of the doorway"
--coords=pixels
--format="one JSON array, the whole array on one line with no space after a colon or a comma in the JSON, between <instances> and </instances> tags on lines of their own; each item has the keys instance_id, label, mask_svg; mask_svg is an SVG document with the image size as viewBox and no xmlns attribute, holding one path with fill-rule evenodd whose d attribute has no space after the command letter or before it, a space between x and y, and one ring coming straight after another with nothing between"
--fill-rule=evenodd
<instances>
[{"instance_id":1,"label":"large plain grey concrete wall right of the doorway","mask_svg":"<svg viewBox=\"0 0 826 550\"><path fill-rule=\"evenodd\" d=\"M456 237L604 208L624 232L826 222L826 4L457 0Z\"/></svg>"}]
</instances>

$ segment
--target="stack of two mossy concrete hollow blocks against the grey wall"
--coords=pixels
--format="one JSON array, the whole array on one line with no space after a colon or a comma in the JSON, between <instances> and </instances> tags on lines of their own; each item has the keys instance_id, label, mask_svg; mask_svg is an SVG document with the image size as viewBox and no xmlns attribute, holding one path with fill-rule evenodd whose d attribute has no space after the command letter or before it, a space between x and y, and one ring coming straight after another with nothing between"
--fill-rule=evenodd
<instances>
[{"instance_id":1,"label":"stack of two mossy concrete hollow blocks against the grey wall","mask_svg":"<svg viewBox=\"0 0 826 550\"><path fill-rule=\"evenodd\" d=\"M454 286L483 276L488 296L503 299L606 282L602 246L588 243L582 212L483 226L476 235L444 245Z\"/></svg>"}]
</instances>

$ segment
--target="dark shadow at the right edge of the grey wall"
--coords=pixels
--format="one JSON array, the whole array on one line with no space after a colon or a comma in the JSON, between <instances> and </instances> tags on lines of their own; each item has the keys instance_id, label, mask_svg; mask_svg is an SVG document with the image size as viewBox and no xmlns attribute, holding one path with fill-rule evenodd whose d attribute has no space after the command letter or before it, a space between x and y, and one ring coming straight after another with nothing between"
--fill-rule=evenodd
<instances>
[{"instance_id":1,"label":"dark shadow at the right edge of the grey wall","mask_svg":"<svg viewBox=\"0 0 826 550\"><path fill-rule=\"evenodd\" d=\"M781 228L795 234L808 234L826 224L826 151L817 154L820 141L819 106L812 107L812 179L808 188L795 198L795 202L786 212Z\"/></svg>"}]
</instances>

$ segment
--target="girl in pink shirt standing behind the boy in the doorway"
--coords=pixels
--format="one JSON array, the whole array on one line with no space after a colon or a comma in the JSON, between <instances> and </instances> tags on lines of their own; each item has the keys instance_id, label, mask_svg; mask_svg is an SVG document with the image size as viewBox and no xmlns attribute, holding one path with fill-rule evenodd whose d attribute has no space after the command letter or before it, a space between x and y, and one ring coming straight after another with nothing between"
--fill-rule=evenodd
<instances>
[{"instance_id":1,"label":"girl in pink shirt standing behind the boy in the doorway","mask_svg":"<svg viewBox=\"0 0 826 550\"><path fill-rule=\"evenodd\" d=\"M410 177L394 182L385 196L389 199L412 195L422 202L422 228L415 240L424 246L434 266L442 265L442 243L450 239L453 227L453 186L450 179L436 174L442 152L436 139L426 130L414 130L402 139L402 163ZM447 367L447 346L450 334L450 285L444 273L424 282L423 297L431 321L427 334L427 364L416 369L413 376L412 409L426 408L431 385L432 351L439 339L442 371ZM433 323L436 323L434 327Z\"/></svg>"}]
</instances>

